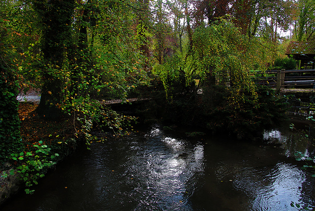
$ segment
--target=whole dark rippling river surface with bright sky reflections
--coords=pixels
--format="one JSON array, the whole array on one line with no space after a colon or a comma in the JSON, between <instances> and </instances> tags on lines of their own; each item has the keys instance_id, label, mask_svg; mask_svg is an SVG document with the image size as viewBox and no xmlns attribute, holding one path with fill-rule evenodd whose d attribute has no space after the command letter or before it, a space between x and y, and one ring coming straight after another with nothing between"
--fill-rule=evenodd
<instances>
[{"instance_id":1,"label":"whole dark rippling river surface with bright sky reflections","mask_svg":"<svg viewBox=\"0 0 315 211\"><path fill-rule=\"evenodd\" d=\"M181 134L155 125L80 149L1 211L295 211L291 201L314 209L315 180L292 157L313 153L308 139L283 129L265 131L260 144Z\"/></svg>"}]
</instances>

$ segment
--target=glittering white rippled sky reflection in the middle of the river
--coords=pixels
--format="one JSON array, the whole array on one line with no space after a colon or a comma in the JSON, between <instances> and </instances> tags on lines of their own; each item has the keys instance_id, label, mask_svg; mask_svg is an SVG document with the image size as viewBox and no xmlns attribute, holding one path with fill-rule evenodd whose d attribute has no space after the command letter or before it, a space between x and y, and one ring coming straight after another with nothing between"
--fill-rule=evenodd
<instances>
[{"instance_id":1,"label":"glittering white rippled sky reflection in the middle of the river","mask_svg":"<svg viewBox=\"0 0 315 211\"><path fill-rule=\"evenodd\" d=\"M132 161L136 171L142 171L144 178L141 180L147 186L147 190L142 191L146 199L141 204L158 202L162 210L188 206L193 186L187 182L195 182L196 173L204 170L203 146L191 146L187 141L168 137L157 127L152 128L147 139L151 147L143 152L140 158L143 160L137 156L137 160ZM141 204L137 209L144 208Z\"/></svg>"}]
</instances>

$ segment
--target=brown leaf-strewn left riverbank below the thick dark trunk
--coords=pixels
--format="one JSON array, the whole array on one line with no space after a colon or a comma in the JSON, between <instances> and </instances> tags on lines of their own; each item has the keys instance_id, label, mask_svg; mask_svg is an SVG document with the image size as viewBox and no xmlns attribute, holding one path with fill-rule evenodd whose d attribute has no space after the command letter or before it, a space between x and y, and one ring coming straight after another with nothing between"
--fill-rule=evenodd
<instances>
[{"instance_id":1,"label":"brown leaf-strewn left riverbank below the thick dark trunk","mask_svg":"<svg viewBox=\"0 0 315 211\"><path fill-rule=\"evenodd\" d=\"M74 134L72 122L67 119L44 121L35 111L37 106L34 103L20 103L19 105L20 133L24 151L21 152L23 156L19 159L12 156L7 163L0 166L0 205L23 187L23 181L18 177L16 168L29 161L27 152L31 152L32 156L35 155L34 146L47 146L51 154L57 153L59 156L56 156L54 162L64 159L77 146L77 142L72 137Z\"/></svg>"}]
</instances>

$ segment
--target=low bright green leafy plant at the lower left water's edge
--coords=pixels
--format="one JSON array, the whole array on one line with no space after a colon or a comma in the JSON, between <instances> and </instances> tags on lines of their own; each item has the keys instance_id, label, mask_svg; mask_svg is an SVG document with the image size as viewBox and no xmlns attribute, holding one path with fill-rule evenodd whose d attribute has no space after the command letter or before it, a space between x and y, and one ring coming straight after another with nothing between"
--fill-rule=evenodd
<instances>
[{"instance_id":1,"label":"low bright green leafy plant at the lower left water's edge","mask_svg":"<svg viewBox=\"0 0 315 211\"><path fill-rule=\"evenodd\" d=\"M37 180L45 176L48 169L56 164L56 157L58 153L51 154L51 149L47 145L42 145L43 142L39 141L39 145L33 145L34 151L11 153L11 159L19 161L17 174L26 184L25 192L32 194L34 190L30 189L33 184L38 184ZM15 170L10 171L10 175L14 175Z\"/></svg>"}]
</instances>

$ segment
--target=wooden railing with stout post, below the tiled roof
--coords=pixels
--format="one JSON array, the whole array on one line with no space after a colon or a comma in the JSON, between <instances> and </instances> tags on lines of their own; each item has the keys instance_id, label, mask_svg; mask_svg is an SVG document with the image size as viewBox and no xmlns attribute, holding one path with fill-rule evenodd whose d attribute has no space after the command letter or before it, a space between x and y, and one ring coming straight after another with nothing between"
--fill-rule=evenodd
<instances>
[{"instance_id":1,"label":"wooden railing with stout post, below the tiled roof","mask_svg":"<svg viewBox=\"0 0 315 211\"><path fill-rule=\"evenodd\" d=\"M251 72L255 85L277 89L315 89L315 70L269 70Z\"/></svg>"}]
</instances>

